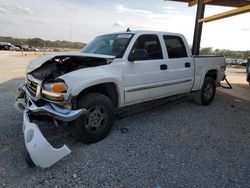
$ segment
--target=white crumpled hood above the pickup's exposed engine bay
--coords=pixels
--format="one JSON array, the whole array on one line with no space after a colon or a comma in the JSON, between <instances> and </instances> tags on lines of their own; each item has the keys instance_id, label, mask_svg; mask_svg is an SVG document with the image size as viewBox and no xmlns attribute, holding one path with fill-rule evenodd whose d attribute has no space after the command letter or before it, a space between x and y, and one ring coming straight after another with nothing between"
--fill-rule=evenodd
<instances>
[{"instance_id":1,"label":"white crumpled hood above the pickup's exposed engine bay","mask_svg":"<svg viewBox=\"0 0 250 188\"><path fill-rule=\"evenodd\" d=\"M96 58L105 58L105 59L114 59L115 56L109 56L109 55L102 55L102 54L89 54L89 53L60 53L60 54L53 54L53 55L47 55L42 56L39 58L36 58L32 60L28 66L26 67L26 73L32 72L33 70L41 67L44 63L47 61L55 58L55 57L63 57L63 56L82 56L82 57L96 57Z\"/></svg>"}]
</instances>

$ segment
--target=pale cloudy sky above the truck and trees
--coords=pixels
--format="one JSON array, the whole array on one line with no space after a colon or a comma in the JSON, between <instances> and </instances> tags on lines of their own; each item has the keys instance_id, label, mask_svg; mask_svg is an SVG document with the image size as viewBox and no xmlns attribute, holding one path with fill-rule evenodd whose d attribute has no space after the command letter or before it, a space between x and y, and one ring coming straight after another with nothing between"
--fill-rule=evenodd
<instances>
[{"instance_id":1,"label":"pale cloudy sky above the truck and trees","mask_svg":"<svg viewBox=\"0 0 250 188\"><path fill-rule=\"evenodd\" d=\"M205 16L230 9L206 6ZM0 0L0 36L87 43L129 27L182 33L192 44L195 13L164 0ZM250 13L204 23L201 47L250 50Z\"/></svg>"}]
</instances>

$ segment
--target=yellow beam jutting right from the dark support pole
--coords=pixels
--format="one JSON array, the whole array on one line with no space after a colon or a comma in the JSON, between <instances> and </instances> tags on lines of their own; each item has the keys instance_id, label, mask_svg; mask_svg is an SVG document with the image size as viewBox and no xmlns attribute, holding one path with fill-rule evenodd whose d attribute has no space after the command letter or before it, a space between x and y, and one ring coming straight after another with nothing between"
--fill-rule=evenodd
<instances>
[{"instance_id":1,"label":"yellow beam jutting right from the dark support pole","mask_svg":"<svg viewBox=\"0 0 250 188\"><path fill-rule=\"evenodd\" d=\"M206 18L199 19L199 22L211 22L211 21L222 19L222 18L227 18L227 17L238 15L238 14L243 14L246 12L250 12L250 5L236 8L233 10L229 10L229 11L226 11L226 12L223 12L220 14L216 14L213 16L208 16Z\"/></svg>"}]
</instances>

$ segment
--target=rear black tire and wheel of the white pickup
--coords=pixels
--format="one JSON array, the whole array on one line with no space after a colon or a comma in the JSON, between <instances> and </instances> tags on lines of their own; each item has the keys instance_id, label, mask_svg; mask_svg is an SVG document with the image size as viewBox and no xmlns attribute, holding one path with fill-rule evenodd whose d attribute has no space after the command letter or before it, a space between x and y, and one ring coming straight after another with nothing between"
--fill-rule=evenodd
<instances>
[{"instance_id":1,"label":"rear black tire and wheel of the white pickup","mask_svg":"<svg viewBox=\"0 0 250 188\"><path fill-rule=\"evenodd\" d=\"M206 77L201 90L193 95L194 102L199 105L207 106L211 104L216 93L216 83L211 77Z\"/></svg>"}]
</instances>

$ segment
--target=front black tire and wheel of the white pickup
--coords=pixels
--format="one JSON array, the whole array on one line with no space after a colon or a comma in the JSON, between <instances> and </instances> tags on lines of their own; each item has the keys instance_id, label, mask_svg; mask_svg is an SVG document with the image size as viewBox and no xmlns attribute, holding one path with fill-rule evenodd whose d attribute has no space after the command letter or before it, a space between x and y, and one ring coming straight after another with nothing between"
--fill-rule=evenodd
<instances>
[{"instance_id":1,"label":"front black tire and wheel of the white pickup","mask_svg":"<svg viewBox=\"0 0 250 188\"><path fill-rule=\"evenodd\" d=\"M86 108L87 114L71 123L72 136L83 143L95 143L104 139L114 122L114 104L100 93L83 95L78 108Z\"/></svg>"}]
</instances>

